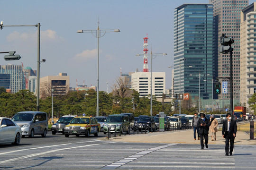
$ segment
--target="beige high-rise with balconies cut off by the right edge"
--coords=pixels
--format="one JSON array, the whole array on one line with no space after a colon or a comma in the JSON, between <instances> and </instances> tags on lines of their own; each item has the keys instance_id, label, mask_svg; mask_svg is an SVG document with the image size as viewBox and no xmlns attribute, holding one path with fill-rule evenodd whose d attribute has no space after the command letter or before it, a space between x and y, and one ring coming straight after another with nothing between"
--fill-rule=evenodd
<instances>
[{"instance_id":1,"label":"beige high-rise with balconies cut off by the right edge","mask_svg":"<svg viewBox=\"0 0 256 170\"><path fill-rule=\"evenodd\" d=\"M240 103L256 93L256 2L241 10Z\"/></svg>"}]
</instances>

